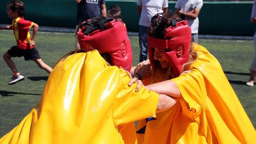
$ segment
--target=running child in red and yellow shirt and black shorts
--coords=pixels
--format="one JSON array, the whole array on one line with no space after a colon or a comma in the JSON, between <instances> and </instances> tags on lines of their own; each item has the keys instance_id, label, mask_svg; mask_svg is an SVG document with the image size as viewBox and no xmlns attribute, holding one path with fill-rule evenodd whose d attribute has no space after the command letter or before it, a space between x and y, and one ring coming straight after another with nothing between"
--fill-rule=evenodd
<instances>
[{"instance_id":1,"label":"running child in red and yellow shirt and black shorts","mask_svg":"<svg viewBox=\"0 0 256 144\"><path fill-rule=\"evenodd\" d=\"M35 48L35 37L38 30L38 25L32 21L27 21L24 19L25 5L19 0L10 1L7 5L7 15L13 19L12 25L6 27L0 27L0 30L13 30L14 36L16 38L17 45L11 47L6 53L4 53L3 58L9 68L12 70L12 79L8 83L9 85L15 84L18 81L24 79L24 76L16 68L16 65L11 60L12 57L21 57L24 59L33 60L37 65L50 73L53 69L45 64L41 59L39 52ZM29 29L33 28L32 36L30 35Z\"/></svg>"}]
</instances>

